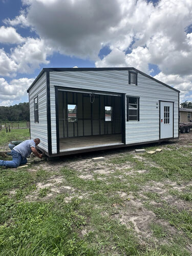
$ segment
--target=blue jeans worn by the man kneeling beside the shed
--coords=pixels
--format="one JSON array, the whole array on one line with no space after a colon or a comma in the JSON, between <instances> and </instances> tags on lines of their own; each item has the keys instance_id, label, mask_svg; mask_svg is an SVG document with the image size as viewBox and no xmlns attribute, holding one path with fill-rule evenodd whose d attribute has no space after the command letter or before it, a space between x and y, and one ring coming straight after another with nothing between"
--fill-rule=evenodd
<instances>
[{"instance_id":1,"label":"blue jeans worn by the man kneeling beside the shed","mask_svg":"<svg viewBox=\"0 0 192 256\"><path fill-rule=\"evenodd\" d=\"M12 156L12 161L4 161L0 160L0 166L7 166L10 168L17 168L20 164L26 164L27 163L27 158L22 157L20 153L12 150L11 151L11 156Z\"/></svg>"}]
</instances>

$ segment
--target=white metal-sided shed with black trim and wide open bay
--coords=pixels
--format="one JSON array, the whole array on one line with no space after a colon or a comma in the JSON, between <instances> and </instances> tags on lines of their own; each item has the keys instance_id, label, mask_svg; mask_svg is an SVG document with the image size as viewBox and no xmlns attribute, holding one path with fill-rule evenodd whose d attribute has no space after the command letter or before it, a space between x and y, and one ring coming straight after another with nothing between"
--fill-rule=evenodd
<instances>
[{"instance_id":1,"label":"white metal-sided shed with black trim and wide open bay","mask_svg":"<svg viewBox=\"0 0 192 256\"><path fill-rule=\"evenodd\" d=\"M179 137L180 92L135 68L45 68L27 92L49 157Z\"/></svg>"}]
</instances>

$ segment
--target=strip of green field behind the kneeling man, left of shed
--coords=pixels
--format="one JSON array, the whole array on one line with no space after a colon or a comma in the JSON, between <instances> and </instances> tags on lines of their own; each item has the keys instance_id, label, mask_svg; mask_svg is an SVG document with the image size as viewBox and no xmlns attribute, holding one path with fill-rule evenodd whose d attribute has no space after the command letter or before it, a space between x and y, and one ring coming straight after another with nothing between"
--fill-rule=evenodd
<instances>
[{"instance_id":1,"label":"strip of green field behind the kneeling man, left of shed","mask_svg":"<svg viewBox=\"0 0 192 256\"><path fill-rule=\"evenodd\" d=\"M5 145L14 140L27 140L30 139L29 129L18 129L11 130L11 132L6 133L6 131L0 131L0 145Z\"/></svg>"}]
</instances>

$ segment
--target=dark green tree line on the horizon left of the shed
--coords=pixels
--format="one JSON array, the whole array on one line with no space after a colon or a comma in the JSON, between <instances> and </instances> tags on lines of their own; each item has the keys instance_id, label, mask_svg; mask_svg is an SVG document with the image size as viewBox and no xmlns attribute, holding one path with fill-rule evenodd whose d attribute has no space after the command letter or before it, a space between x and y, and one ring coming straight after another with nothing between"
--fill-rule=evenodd
<instances>
[{"instance_id":1,"label":"dark green tree line on the horizon left of the shed","mask_svg":"<svg viewBox=\"0 0 192 256\"><path fill-rule=\"evenodd\" d=\"M0 106L0 122L29 121L29 102Z\"/></svg>"}]
</instances>

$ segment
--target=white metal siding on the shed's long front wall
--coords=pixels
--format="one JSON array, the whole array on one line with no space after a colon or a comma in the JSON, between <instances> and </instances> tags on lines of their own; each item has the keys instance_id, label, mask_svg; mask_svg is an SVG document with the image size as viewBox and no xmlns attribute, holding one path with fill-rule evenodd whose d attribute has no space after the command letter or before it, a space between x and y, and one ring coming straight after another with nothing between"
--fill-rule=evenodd
<instances>
[{"instance_id":1,"label":"white metal siding on the shed's long front wall","mask_svg":"<svg viewBox=\"0 0 192 256\"><path fill-rule=\"evenodd\" d=\"M174 137L178 137L178 92L138 73L138 85L129 84L129 72L123 71L76 71L50 72L50 88L53 86L88 89L104 92L125 93L140 97L140 121L126 121L126 144L159 140L159 100L174 101ZM56 131L54 90L51 90L52 129ZM125 101L126 117L126 101ZM56 149L56 133L52 145Z\"/></svg>"}]
</instances>

